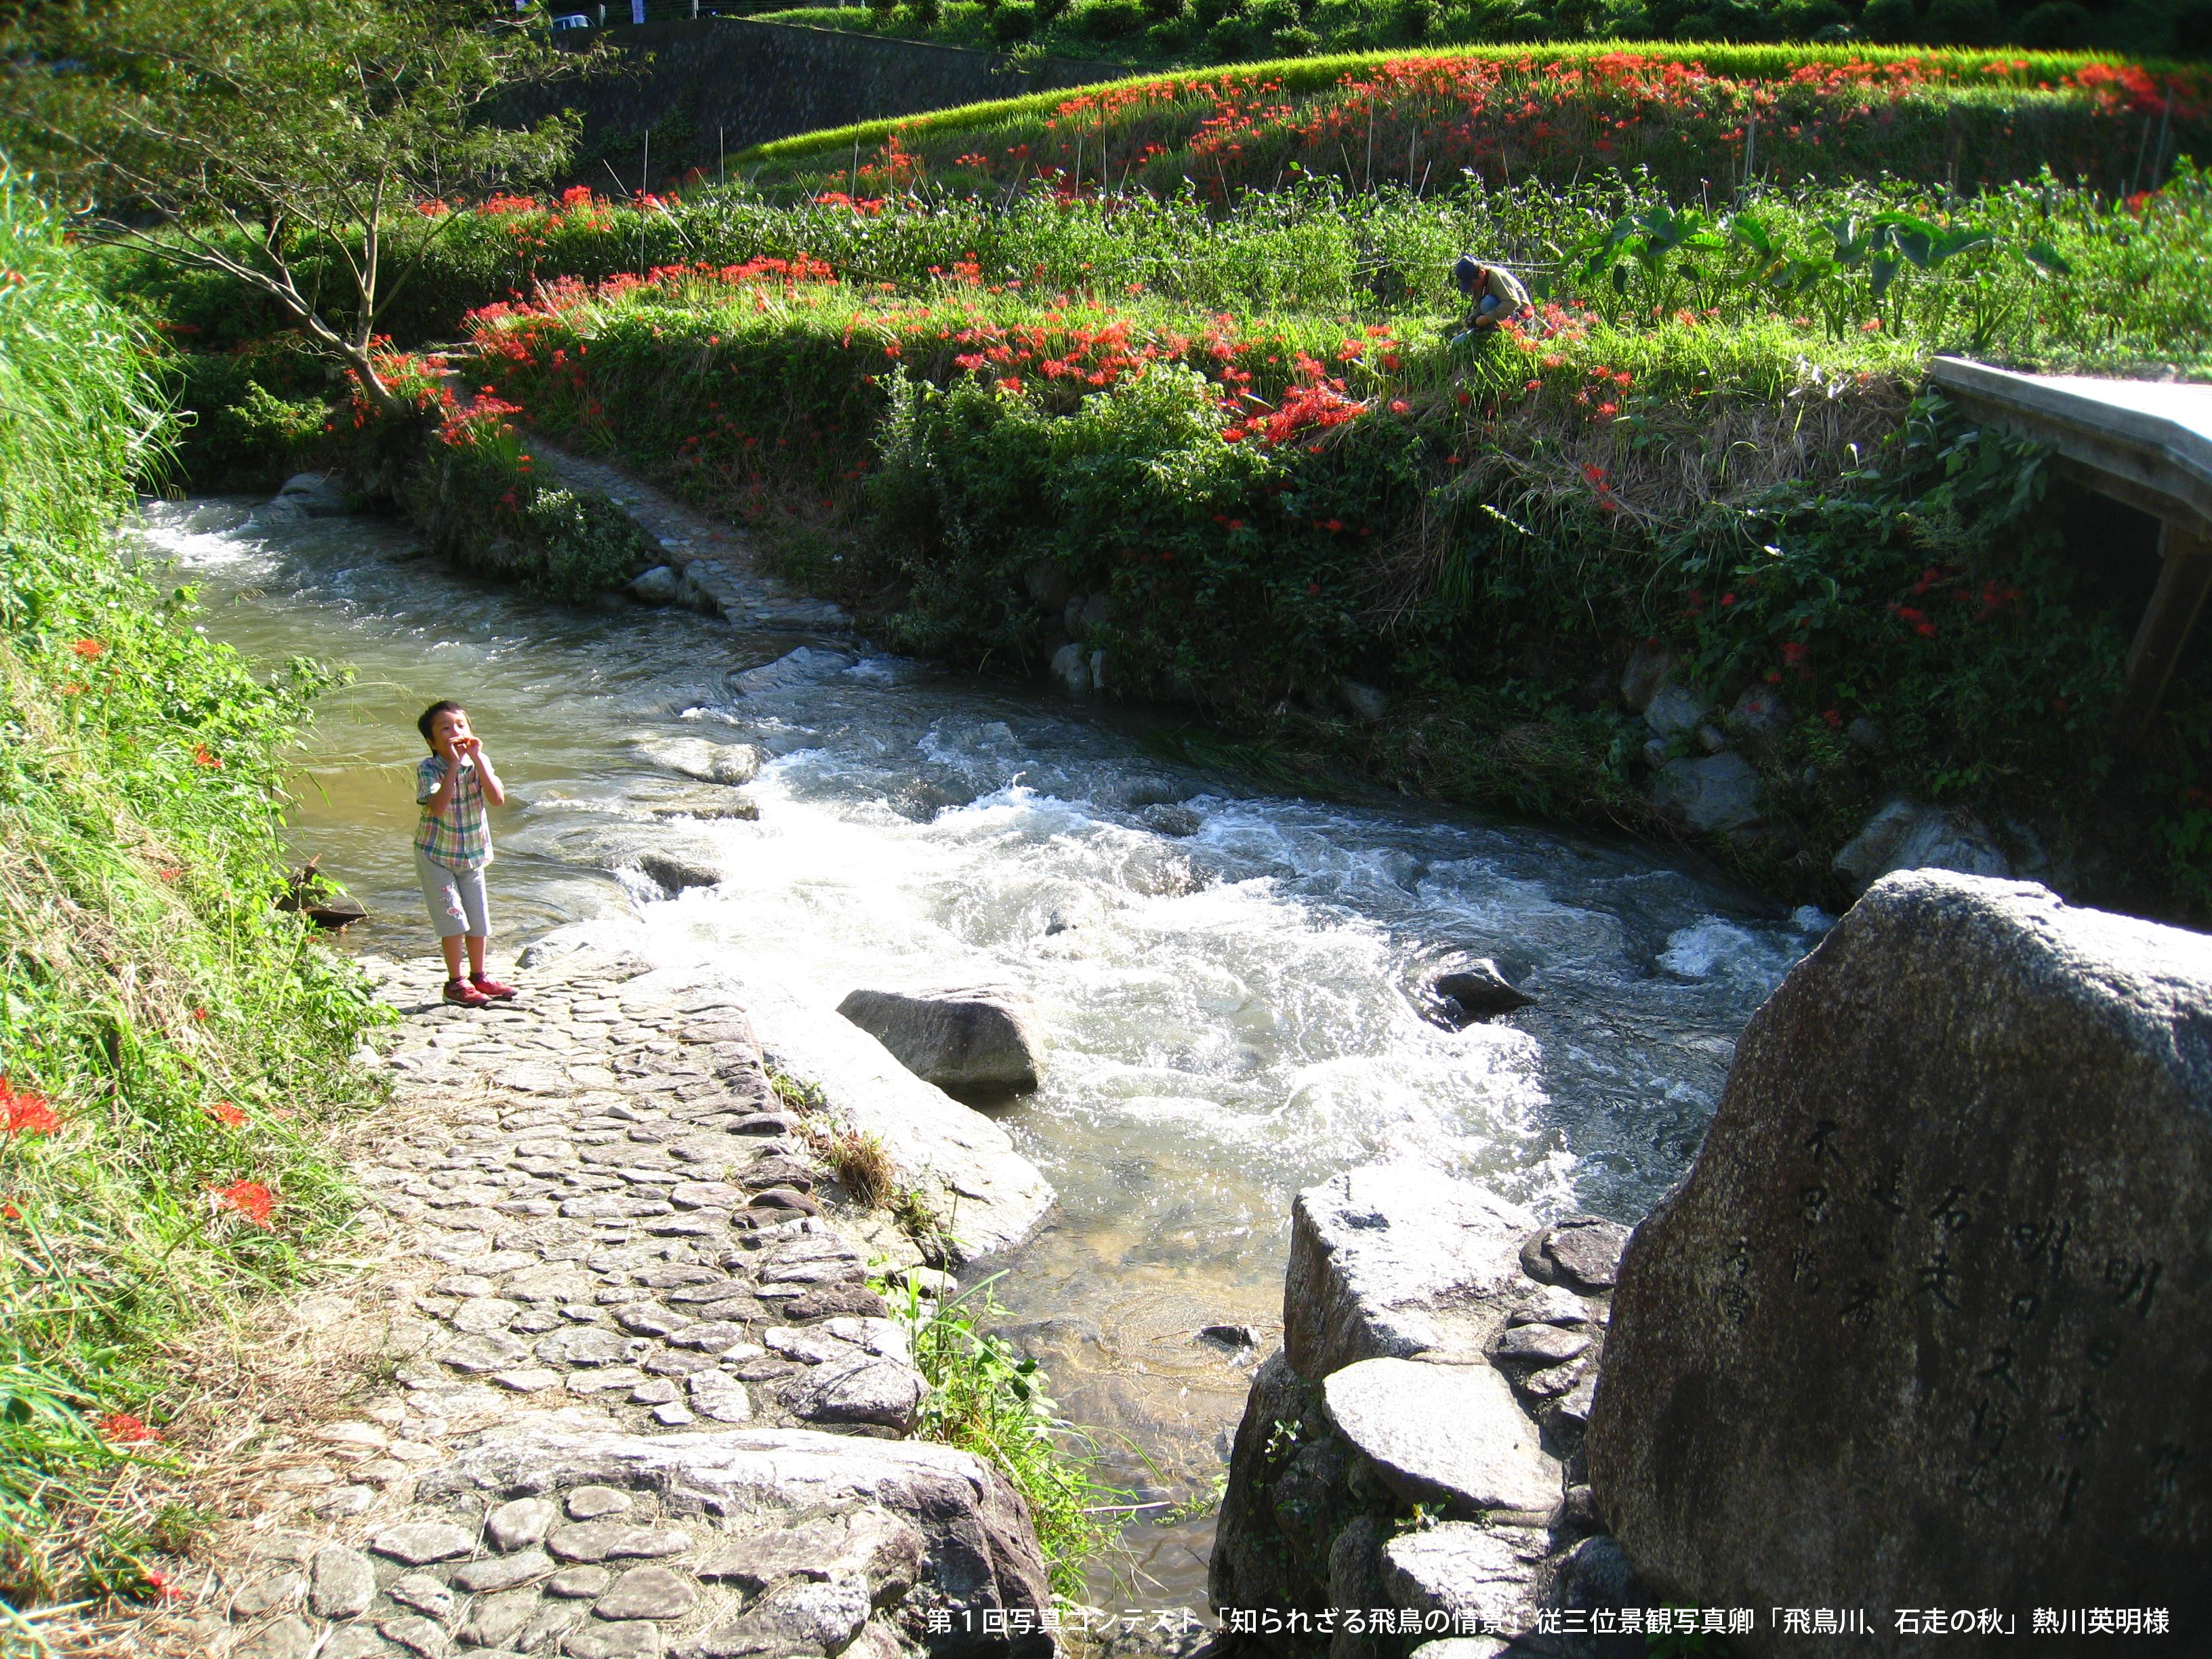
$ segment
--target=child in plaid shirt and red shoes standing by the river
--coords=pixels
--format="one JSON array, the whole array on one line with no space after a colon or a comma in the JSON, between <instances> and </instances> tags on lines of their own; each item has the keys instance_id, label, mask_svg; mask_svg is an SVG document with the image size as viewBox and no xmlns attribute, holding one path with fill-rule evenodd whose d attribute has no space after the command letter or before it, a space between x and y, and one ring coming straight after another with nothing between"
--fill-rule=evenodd
<instances>
[{"instance_id":1,"label":"child in plaid shirt and red shoes standing by the river","mask_svg":"<svg viewBox=\"0 0 2212 1659\"><path fill-rule=\"evenodd\" d=\"M491 770L482 739L469 730L460 703L431 703L416 721L429 754L416 768L416 876L429 922L445 951L445 1000L465 1009L511 998L515 987L484 973L484 865L491 863L491 821L484 803L507 805L507 785ZM460 978L460 947L469 947L469 978Z\"/></svg>"}]
</instances>

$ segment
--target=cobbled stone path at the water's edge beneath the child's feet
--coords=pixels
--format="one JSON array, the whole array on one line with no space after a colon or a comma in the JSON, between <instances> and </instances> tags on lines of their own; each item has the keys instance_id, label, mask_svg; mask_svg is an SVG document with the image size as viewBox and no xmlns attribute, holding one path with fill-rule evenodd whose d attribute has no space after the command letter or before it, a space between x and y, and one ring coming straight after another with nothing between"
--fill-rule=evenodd
<instances>
[{"instance_id":1,"label":"cobbled stone path at the water's edge beneath the child's feet","mask_svg":"<svg viewBox=\"0 0 2212 1659\"><path fill-rule=\"evenodd\" d=\"M389 1385L279 1475L197 1650L1037 1648L1020 1500L905 1438L925 1385L867 1279L942 1279L841 1201L732 991L586 951L465 1011L429 960L365 967L405 1015L356 1166Z\"/></svg>"}]
</instances>

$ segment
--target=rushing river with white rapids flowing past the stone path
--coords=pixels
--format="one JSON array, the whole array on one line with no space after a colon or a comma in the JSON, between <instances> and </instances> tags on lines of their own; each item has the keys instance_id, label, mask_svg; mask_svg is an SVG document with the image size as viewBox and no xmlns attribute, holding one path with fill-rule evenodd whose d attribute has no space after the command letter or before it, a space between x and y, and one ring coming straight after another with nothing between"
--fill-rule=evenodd
<instances>
[{"instance_id":1,"label":"rushing river with white rapids flowing past the stone path","mask_svg":"<svg viewBox=\"0 0 2212 1659\"><path fill-rule=\"evenodd\" d=\"M376 520L146 509L146 553L199 584L259 666L354 670L299 757L292 845L361 898L347 942L434 949L414 887L414 719L469 706L509 783L495 951L622 914L670 958L772 962L834 1004L863 984L1013 982L1046 1079L993 1115L1060 1190L993 1292L1062 1411L1139 1504L1113 1604L1203 1606L1208 1515L1252 1354L1281 1323L1290 1199L1413 1157L1544 1214L1632 1221L1681 1175L1736 1031L1825 922L1626 843L1374 796L1323 803L1157 759L1159 712L940 672L854 639L681 611L568 608L453 575ZM779 675L737 686L761 664ZM655 754L770 757L759 821ZM577 863L608 834L708 838L730 876L668 896ZM619 860L615 860L619 865ZM1433 971L1491 956L1506 1022L1422 1018ZM526 993L526 975L524 975ZM1199 1506L1194 1506L1199 1509ZM1108 1568L1102 1568L1102 1575Z\"/></svg>"}]
</instances>

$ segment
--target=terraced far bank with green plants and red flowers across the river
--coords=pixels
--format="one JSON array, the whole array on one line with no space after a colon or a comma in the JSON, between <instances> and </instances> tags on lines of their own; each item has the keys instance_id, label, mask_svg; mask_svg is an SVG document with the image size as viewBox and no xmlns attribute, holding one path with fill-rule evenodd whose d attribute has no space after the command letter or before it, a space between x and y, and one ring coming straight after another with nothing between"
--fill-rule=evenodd
<instances>
[{"instance_id":1,"label":"terraced far bank with green plants and red flowers across the river","mask_svg":"<svg viewBox=\"0 0 2212 1659\"><path fill-rule=\"evenodd\" d=\"M473 332L529 420L774 531L902 644L1033 670L1073 637L1283 776L1666 832L1650 768L1701 741L1646 754L1610 688L1661 641L1763 779L1705 845L1772 889L1840 900L1829 856L1911 790L2201 914L2201 668L2121 768L2139 595L2064 557L2033 449L1905 420L1938 349L2203 372L2212 195L2177 164L2112 199L2201 148L2190 88L1701 58L1263 64L816 135L745 157L759 192L425 219L418 316L526 290ZM1544 321L1447 347L1462 248Z\"/></svg>"}]
</instances>

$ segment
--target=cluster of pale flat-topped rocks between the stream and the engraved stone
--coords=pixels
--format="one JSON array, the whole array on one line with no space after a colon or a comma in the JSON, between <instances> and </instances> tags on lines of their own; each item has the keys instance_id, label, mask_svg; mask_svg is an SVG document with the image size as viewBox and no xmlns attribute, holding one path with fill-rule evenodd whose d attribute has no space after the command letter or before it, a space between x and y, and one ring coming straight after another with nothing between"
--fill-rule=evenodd
<instances>
[{"instance_id":1,"label":"cluster of pale flat-topped rocks between the stream and the engraved stone","mask_svg":"<svg viewBox=\"0 0 2212 1659\"><path fill-rule=\"evenodd\" d=\"M1420 1164L1298 1194L1283 1349L1254 1371L1214 1531L1232 1632L1294 1659L1400 1659L1438 1635L1504 1652L1537 1624L1595 1524L1568 1489L1584 1418L1564 1402L1604 1345L1604 1292L1524 1272L1544 1232Z\"/></svg>"}]
</instances>

